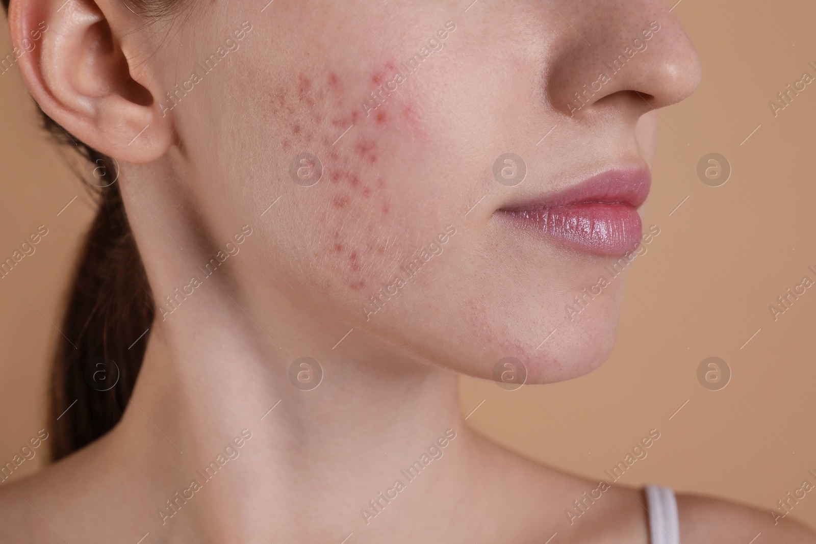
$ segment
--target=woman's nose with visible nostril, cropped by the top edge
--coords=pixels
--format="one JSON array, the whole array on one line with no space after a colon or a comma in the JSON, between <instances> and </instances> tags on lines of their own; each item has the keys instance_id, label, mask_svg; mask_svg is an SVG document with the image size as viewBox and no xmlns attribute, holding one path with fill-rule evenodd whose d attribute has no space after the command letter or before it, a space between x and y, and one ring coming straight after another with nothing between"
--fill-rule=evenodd
<instances>
[{"instance_id":1,"label":"woman's nose with visible nostril, cropped by the top edge","mask_svg":"<svg viewBox=\"0 0 816 544\"><path fill-rule=\"evenodd\" d=\"M545 89L569 117L623 107L636 118L685 100L699 85L697 51L663 0L548 0L543 9L565 23Z\"/></svg>"}]
</instances>

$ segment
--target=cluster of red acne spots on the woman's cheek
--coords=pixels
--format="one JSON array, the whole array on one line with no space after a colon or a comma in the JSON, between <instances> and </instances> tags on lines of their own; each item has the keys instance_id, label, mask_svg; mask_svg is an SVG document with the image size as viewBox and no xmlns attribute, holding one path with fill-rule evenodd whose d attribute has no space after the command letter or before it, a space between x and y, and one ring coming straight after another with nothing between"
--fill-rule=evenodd
<instances>
[{"instance_id":1,"label":"cluster of red acne spots on the woman's cheek","mask_svg":"<svg viewBox=\"0 0 816 544\"><path fill-rule=\"evenodd\" d=\"M327 232L323 257L331 259L348 288L357 291L388 272L382 270L388 260L388 232L398 221L388 192L389 163L395 158L391 150L398 151L406 132L414 141L421 129L406 89L368 116L362 107L379 81L392 78L385 74L394 67L386 63L363 82L335 72L295 73L292 84L270 95L273 124L276 130L282 127L286 157L308 152L322 162L322 179L312 190Z\"/></svg>"}]
</instances>

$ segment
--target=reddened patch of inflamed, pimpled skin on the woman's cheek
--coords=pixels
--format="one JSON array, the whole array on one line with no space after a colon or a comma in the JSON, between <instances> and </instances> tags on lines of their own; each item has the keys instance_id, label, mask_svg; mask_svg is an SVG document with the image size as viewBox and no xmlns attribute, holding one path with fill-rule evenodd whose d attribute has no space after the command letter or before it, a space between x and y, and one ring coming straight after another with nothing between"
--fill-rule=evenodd
<instances>
[{"instance_id":1,"label":"reddened patch of inflamed, pimpled skin on the woman's cheek","mask_svg":"<svg viewBox=\"0 0 816 544\"><path fill-rule=\"evenodd\" d=\"M313 256L354 291L379 287L401 254L393 233L410 231L406 164L423 156L427 131L398 71L393 61L365 75L296 71L271 97L285 162L311 153L322 163L320 181L297 189L320 229Z\"/></svg>"}]
</instances>

